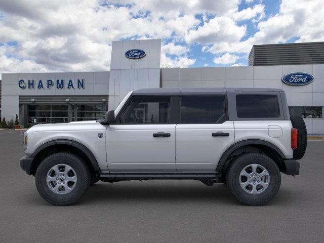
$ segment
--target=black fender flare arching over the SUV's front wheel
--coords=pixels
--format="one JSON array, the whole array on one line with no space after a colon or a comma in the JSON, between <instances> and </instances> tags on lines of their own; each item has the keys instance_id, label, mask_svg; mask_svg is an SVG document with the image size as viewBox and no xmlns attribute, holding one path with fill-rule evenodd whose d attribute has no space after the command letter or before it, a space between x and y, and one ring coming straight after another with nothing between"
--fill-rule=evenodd
<instances>
[{"instance_id":1,"label":"black fender flare arching over the SUV's front wheel","mask_svg":"<svg viewBox=\"0 0 324 243\"><path fill-rule=\"evenodd\" d=\"M43 149L45 149L45 148L47 148L49 146L59 145L59 144L70 145L70 146L78 148L79 150L84 152L86 154L86 156L89 158L90 163L93 166L94 170L96 172L100 172L98 161L97 161L96 157L93 155L93 153L89 150L89 148L87 148L85 145L83 145L83 144L81 144L79 142L73 141L73 140L57 139L57 140L52 140L52 141L46 142L46 143L42 144L41 146L39 146L32 153L32 157L35 157L39 152L41 152Z\"/></svg>"}]
</instances>

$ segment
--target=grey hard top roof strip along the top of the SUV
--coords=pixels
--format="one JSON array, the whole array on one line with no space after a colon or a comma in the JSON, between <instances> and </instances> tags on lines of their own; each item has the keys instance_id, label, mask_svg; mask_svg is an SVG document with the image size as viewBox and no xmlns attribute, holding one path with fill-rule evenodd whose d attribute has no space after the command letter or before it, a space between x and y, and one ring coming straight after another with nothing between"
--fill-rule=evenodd
<instances>
[{"instance_id":1,"label":"grey hard top roof strip along the top of the SUV","mask_svg":"<svg viewBox=\"0 0 324 243\"><path fill-rule=\"evenodd\" d=\"M133 95L221 95L233 92L284 92L281 89L254 88L148 88L134 90Z\"/></svg>"}]
</instances>

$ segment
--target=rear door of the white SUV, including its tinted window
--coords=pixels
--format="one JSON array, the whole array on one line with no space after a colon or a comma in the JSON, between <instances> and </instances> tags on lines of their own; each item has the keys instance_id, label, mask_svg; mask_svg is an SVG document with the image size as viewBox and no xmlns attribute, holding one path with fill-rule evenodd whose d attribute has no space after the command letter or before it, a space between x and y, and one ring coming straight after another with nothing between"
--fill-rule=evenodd
<instances>
[{"instance_id":1,"label":"rear door of the white SUV, including its tinted window","mask_svg":"<svg viewBox=\"0 0 324 243\"><path fill-rule=\"evenodd\" d=\"M176 126L177 171L215 171L219 158L234 143L227 120L226 95L181 95Z\"/></svg>"}]
</instances>

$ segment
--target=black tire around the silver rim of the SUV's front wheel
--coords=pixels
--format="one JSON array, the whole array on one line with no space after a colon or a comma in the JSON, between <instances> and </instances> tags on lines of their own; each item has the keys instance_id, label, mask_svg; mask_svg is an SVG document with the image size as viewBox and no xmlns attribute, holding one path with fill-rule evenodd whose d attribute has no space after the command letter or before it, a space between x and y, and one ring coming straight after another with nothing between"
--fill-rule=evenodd
<instances>
[{"instance_id":1,"label":"black tire around the silver rim of the SUV's front wheel","mask_svg":"<svg viewBox=\"0 0 324 243\"><path fill-rule=\"evenodd\" d=\"M66 194L57 194L51 191L47 185L47 173L58 164L65 164L73 168L77 176L77 182L72 191ZM35 175L35 184L38 193L55 206L68 206L74 204L86 192L90 183L90 171L86 163L77 155L69 152L55 153L45 158L38 166Z\"/></svg>"}]
</instances>

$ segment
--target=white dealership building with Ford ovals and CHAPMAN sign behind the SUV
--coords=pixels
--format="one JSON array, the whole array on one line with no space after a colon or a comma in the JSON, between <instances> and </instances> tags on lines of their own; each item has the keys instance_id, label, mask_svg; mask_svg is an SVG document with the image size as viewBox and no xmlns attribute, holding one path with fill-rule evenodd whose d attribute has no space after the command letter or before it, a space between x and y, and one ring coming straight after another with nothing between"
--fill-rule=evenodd
<instances>
[{"instance_id":1,"label":"white dealership building with Ford ovals and CHAPMAN sign behind the SUV","mask_svg":"<svg viewBox=\"0 0 324 243\"><path fill-rule=\"evenodd\" d=\"M116 41L110 71L3 73L1 116L18 114L21 125L98 119L140 88L279 88L308 133L324 134L324 42L256 45L244 67L160 68L160 52L160 39Z\"/></svg>"}]
</instances>

